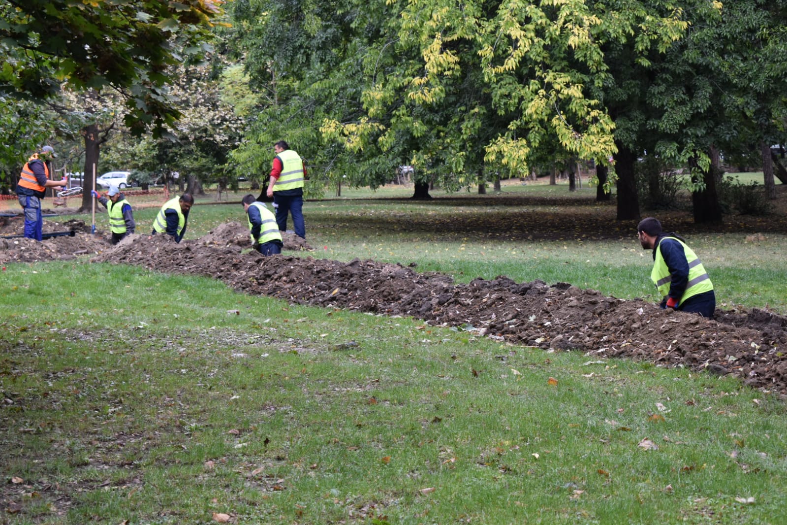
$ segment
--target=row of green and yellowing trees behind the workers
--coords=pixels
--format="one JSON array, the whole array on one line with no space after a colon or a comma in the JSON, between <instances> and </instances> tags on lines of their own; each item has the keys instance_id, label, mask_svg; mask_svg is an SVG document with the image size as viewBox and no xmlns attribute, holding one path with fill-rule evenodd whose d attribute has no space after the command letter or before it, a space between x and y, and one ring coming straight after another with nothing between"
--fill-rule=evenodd
<instances>
[{"instance_id":1,"label":"row of green and yellowing trees behind the workers","mask_svg":"<svg viewBox=\"0 0 787 525\"><path fill-rule=\"evenodd\" d=\"M430 181L456 190L584 159L598 166L599 198L616 178L623 220L639 216L638 159L654 156L691 169L704 222L721 219L719 157L756 152L775 197L787 0L235 0L227 13L207 0L135 0L122 23L103 4L76 9L95 12L89 20L43 9L65 3L0 8L19 24L0 28L0 50L27 57L3 70L0 102L21 122L30 102L8 94L53 111L79 101L58 113L57 132L79 130L86 153L95 143L86 166L105 142L126 167L186 172L190 185L261 180L272 143L286 139L308 159L312 184L378 187L413 165L419 196ZM100 47L74 44L88 22L137 31L101 43L117 67L79 61L83 47Z\"/></svg>"}]
</instances>

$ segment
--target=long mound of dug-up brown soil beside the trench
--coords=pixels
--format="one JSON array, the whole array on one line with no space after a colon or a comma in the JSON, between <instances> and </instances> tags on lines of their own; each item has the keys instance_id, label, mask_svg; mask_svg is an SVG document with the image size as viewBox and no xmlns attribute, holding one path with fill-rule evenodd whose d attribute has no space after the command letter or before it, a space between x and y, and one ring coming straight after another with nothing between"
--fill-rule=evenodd
<instances>
[{"instance_id":1,"label":"long mound of dug-up brown soil beside the trench","mask_svg":"<svg viewBox=\"0 0 787 525\"><path fill-rule=\"evenodd\" d=\"M205 275L247 294L297 304L412 316L438 326L542 349L577 349L592 359L628 357L665 366L734 375L749 386L787 394L787 317L759 309L716 310L715 320L605 297L569 283L515 283L506 277L457 284L448 275L401 264L303 257L302 239L286 235L282 255L262 257L248 228L231 222L176 244L163 235L132 235L117 246L80 221L73 237L44 242L0 239L0 262L51 261L91 253L91 261ZM0 234L7 235L0 224ZM293 253L297 253L294 255Z\"/></svg>"}]
</instances>

